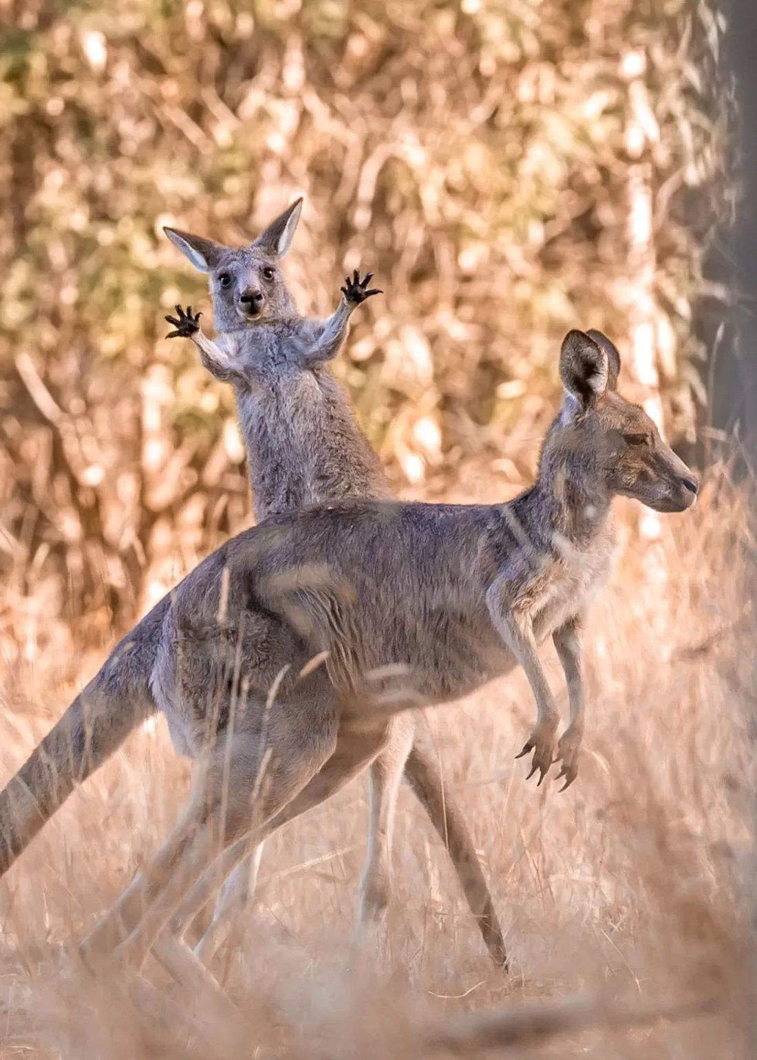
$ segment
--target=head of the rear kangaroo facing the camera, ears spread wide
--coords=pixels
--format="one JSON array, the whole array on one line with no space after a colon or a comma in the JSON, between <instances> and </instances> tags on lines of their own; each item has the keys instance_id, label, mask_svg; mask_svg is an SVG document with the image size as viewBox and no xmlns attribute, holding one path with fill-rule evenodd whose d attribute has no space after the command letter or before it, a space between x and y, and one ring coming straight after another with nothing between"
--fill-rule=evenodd
<instances>
[{"instance_id":1,"label":"head of the rear kangaroo facing the camera, ears spread wide","mask_svg":"<svg viewBox=\"0 0 757 1060\"><path fill-rule=\"evenodd\" d=\"M163 229L195 268L209 273L216 331L293 316L279 262L292 245L301 211L299 198L246 247L225 247L201 235Z\"/></svg>"}]
</instances>

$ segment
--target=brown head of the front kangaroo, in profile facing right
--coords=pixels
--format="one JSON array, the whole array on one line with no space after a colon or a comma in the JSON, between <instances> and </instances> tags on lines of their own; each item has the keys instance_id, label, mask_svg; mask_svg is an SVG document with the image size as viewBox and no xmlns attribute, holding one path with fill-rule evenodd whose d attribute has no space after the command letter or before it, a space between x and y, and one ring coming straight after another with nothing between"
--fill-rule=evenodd
<instances>
[{"instance_id":1,"label":"brown head of the front kangaroo, in profile facing right","mask_svg":"<svg viewBox=\"0 0 757 1060\"><path fill-rule=\"evenodd\" d=\"M560 351L565 400L542 450L547 474L633 497L657 512L683 512L696 499L696 477L649 416L617 391L620 355L598 331L570 331Z\"/></svg>"}]
</instances>

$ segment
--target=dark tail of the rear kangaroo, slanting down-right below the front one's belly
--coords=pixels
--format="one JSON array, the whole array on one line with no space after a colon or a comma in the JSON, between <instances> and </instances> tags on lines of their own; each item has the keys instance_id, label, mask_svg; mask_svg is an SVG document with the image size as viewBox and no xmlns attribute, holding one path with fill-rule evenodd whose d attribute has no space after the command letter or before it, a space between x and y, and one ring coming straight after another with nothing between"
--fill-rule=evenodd
<instances>
[{"instance_id":1,"label":"dark tail of the rear kangaroo, slanting down-right below the front one's belly","mask_svg":"<svg viewBox=\"0 0 757 1060\"><path fill-rule=\"evenodd\" d=\"M420 725L418 729L421 729ZM434 749L418 730L405 763L405 779L447 849L492 959L499 968L507 970L505 937L465 818L450 790L444 787Z\"/></svg>"}]
</instances>

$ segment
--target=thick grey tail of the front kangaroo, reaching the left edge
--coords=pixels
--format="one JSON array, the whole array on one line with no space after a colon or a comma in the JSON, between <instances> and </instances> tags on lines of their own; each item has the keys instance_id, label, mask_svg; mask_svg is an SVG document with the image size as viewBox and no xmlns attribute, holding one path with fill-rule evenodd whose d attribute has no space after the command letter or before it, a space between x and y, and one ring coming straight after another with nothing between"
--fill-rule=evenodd
<instances>
[{"instance_id":1,"label":"thick grey tail of the front kangaroo, reaching the left edge","mask_svg":"<svg viewBox=\"0 0 757 1060\"><path fill-rule=\"evenodd\" d=\"M157 707L149 676L161 601L119 643L0 792L0 877L66 801Z\"/></svg>"}]
</instances>

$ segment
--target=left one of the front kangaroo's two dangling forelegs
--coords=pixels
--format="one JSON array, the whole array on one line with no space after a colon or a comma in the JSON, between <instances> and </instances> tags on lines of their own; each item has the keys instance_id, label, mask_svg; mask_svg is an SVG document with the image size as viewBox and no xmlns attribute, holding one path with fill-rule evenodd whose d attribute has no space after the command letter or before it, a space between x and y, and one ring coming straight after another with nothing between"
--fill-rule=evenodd
<instances>
[{"instance_id":1,"label":"left one of the front kangaroo's two dangling forelegs","mask_svg":"<svg viewBox=\"0 0 757 1060\"><path fill-rule=\"evenodd\" d=\"M541 784L552 764L554 734L560 723L560 712L544 675L542 664L539 661L531 620L524 611L511 605L509 597L507 582L504 579L497 579L487 591L487 607L494 629L523 667L536 700L536 724L533 726L523 750L515 757L522 758L529 752L533 752L531 772L528 777L532 777L539 770L539 783ZM526 777L527 780L528 777Z\"/></svg>"}]
</instances>

